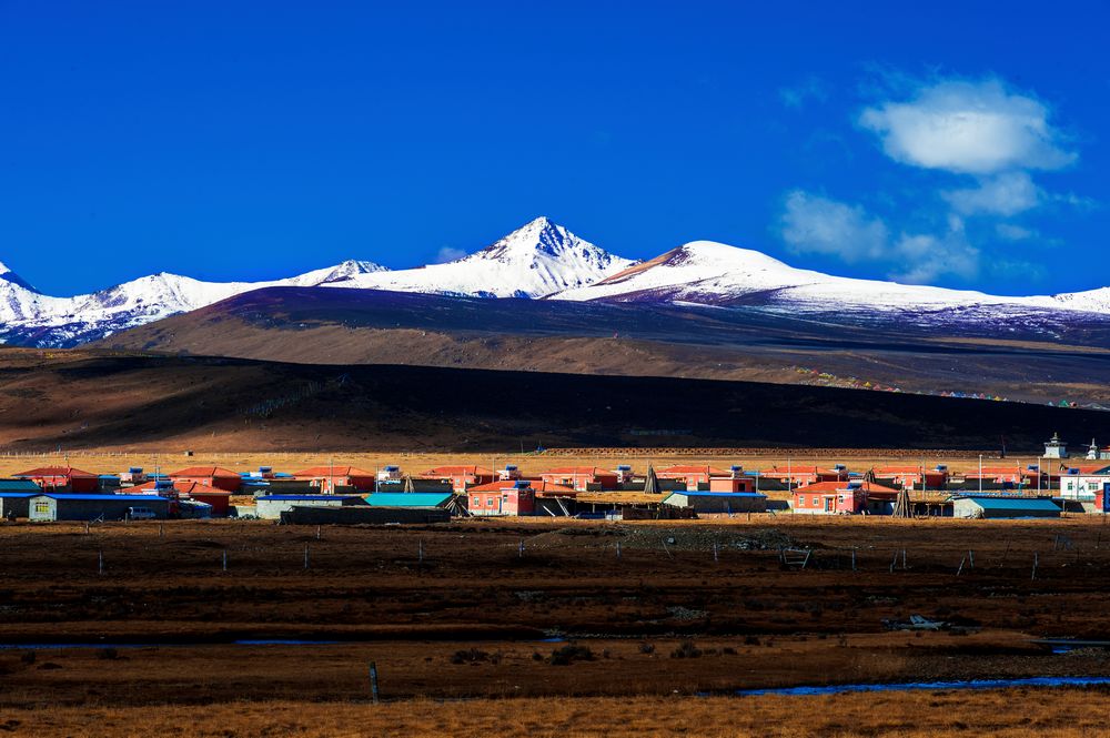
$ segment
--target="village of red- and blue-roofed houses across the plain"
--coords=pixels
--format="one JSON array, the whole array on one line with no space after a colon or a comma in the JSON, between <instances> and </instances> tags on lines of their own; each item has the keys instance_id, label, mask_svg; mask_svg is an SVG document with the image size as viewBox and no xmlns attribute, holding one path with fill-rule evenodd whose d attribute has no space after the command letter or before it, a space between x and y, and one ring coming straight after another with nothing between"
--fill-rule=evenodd
<instances>
[{"instance_id":1,"label":"village of red- and blue-roofed houses across the plain","mask_svg":"<svg viewBox=\"0 0 1110 738\"><path fill-rule=\"evenodd\" d=\"M95 474L42 466L0 479L0 519L240 518L283 524L428 524L453 517L682 520L734 515L1027 518L1110 512L1110 447L1071 458L1058 435L1035 464L551 466L525 473L438 465L374 469L329 463L294 472L132 466Z\"/></svg>"}]
</instances>

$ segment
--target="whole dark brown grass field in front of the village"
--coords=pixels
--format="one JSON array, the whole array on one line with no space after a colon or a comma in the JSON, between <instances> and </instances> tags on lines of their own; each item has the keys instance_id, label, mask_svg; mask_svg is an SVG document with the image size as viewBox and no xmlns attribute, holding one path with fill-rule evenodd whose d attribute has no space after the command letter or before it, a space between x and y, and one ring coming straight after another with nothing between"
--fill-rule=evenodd
<instances>
[{"instance_id":1,"label":"whole dark brown grass field in front of the village","mask_svg":"<svg viewBox=\"0 0 1110 738\"><path fill-rule=\"evenodd\" d=\"M0 649L0 728L34 736L1100 735L1100 712L1080 707L1101 702L1106 688L726 696L797 685L1106 676L1107 651L1057 654L1035 639L1101 639L1110 630L1107 529L1089 517L788 515L325 526L319 534L265 522L120 523L88 533L79 524L0 524L0 641L9 646ZM784 568L784 544L813 548L811 565ZM958 573L969 552L975 566ZM915 614L956 628L884 626ZM366 705L371 661L385 700L376 708Z\"/></svg>"}]
</instances>

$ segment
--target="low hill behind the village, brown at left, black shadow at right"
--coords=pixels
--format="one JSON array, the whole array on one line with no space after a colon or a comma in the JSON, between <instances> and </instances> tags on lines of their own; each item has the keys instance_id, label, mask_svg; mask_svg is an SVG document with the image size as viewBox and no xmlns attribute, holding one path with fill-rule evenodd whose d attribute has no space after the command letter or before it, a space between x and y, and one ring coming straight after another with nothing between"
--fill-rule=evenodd
<instances>
[{"instance_id":1,"label":"low hill behind the village, brown at left, black shadow at right","mask_svg":"<svg viewBox=\"0 0 1110 738\"><path fill-rule=\"evenodd\" d=\"M799 446L1030 451L1110 415L665 377L0 352L11 448L497 451Z\"/></svg>"}]
</instances>

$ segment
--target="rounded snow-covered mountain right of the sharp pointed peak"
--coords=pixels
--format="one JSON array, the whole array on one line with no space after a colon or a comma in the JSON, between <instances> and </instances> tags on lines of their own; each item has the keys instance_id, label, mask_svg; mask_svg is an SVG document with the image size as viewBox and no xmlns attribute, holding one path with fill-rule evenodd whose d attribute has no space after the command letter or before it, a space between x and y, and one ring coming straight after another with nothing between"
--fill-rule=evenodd
<instances>
[{"instance_id":1,"label":"rounded snow-covered mountain right of the sharp pointed peak","mask_svg":"<svg viewBox=\"0 0 1110 738\"><path fill-rule=\"evenodd\" d=\"M946 310L980 306L1059 309L1053 297L1005 297L982 292L831 276L796 269L766 254L695 241L555 300L666 301L707 305L764 304L807 312Z\"/></svg>"}]
</instances>

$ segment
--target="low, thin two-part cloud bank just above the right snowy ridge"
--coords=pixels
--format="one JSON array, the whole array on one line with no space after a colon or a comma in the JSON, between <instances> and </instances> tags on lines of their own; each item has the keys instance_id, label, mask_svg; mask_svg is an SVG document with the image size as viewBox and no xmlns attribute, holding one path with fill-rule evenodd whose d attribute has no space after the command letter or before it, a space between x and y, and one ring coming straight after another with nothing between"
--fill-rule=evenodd
<instances>
[{"instance_id":1,"label":"low, thin two-part cloud bank just above the right snowy ridge","mask_svg":"<svg viewBox=\"0 0 1110 738\"><path fill-rule=\"evenodd\" d=\"M892 239L886 223L859 205L795 190L786 198L779 224L783 240L797 253L885 264L888 276L899 282L970 280L979 272L979 250L968 243L958 216L949 219L947 233L904 233Z\"/></svg>"}]
</instances>

